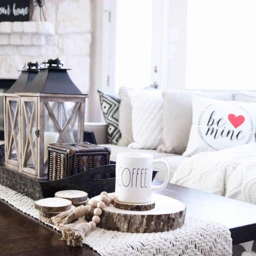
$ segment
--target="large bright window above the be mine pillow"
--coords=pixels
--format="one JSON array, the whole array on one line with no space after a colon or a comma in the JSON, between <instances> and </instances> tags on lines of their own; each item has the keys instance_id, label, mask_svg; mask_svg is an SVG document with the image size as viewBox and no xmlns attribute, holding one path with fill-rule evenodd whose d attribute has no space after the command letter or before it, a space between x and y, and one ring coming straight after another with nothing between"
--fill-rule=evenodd
<instances>
[{"instance_id":1,"label":"large bright window above the be mine pillow","mask_svg":"<svg viewBox=\"0 0 256 256\"><path fill-rule=\"evenodd\" d=\"M186 86L256 88L256 1L188 1Z\"/></svg>"}]
</instances>

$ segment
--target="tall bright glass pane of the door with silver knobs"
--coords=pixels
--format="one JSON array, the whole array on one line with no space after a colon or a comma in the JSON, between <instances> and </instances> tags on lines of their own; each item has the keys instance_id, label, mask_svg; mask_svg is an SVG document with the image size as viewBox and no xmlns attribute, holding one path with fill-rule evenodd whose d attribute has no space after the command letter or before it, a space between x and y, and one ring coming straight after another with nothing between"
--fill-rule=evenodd
<instances>
[{"instance_id":1,"label":"tall bright glass pane of the door with silver knobs","mask_svg":"<svg viewBox=\"0 0 256 256\"><path fill-rule=\"evenodd\" d=\"M119 0L117 5L115 90L150 84L152 1Z\"/></svg>"}]
</instances>

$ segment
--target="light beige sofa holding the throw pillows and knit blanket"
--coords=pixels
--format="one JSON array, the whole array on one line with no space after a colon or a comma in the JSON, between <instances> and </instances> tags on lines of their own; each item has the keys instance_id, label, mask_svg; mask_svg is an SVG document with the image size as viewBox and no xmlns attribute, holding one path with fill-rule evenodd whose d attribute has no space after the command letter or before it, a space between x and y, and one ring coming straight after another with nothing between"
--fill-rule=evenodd
<instances>
[{"instance_id":1,"label":"light beige sofa holding the throw pillows and knit blanket","mask_svg":"<svg viewBox=\"0 0 256 256\"><path fill-rule=\"evenodd\" d=\"M187 91L187 90L178 90L179 93L185 93L185 94L194 94L194 92L197 95L204 97L204 94L206 93L213 93L213 94L218 94L218 91L209 91L209 90L203 90L203 91ZM244 102L256 102L256 92L255 91L219 91L220 94L226 93L228 94L228 97L224 96L224 100L237 100L237 101L244 101ZM234 98L234 94L237 93L236 98ZM184 94L184 95L185 95ZM231 96L230 96L231 95ZM245 97L244 97L245 96ZM191 97L191 96L189 96ZM207 96L205 96L207 97ZM211 98L211 97L209 97ZM215 98L214 96L212 98ZM217 97L217 99L219 99ZM222 99L222 98L220 98ZM166 99L165 99L166 100ZM187 99L184 99L184 102L181 102L179 99L176 99L178 102L178 105L176 105L176 108L173 111L176 111L176 115L181 115L183 111L183 107L181 106L182 104L186 104ZM190 103L189 108L192 108L192 104ZM180 112L179 112L180 111ZM192 113L192 109L190 110ZM189 112L190 113L190 112ZM190 113L190 115L191 115ZM188 114L188 113L187 113ZM190 117L191 118L191 117ZM192 118L191 118L192 119ZM190 130L190 127L186 127L186 129ZM119 146L119 145L113 145L113 144L108 144L108 138L107 138L107 124L106 123L85 123L84 130L86 131L93 131L95 134L95 138L97 141L97 144L103 145L103 146L108 146L111 148L111 156L110 160L111 161L116 161L116 156L117 153L119 152L143 152L143 153L149 153L153 155L154 159L163 159L166 160L167 163L169 164L170 167L170 178L173 177L174 172L177 170L177 167L186 159L188 159L188 156L182 156L181 154L173 154L173 153L162 153L158 152L157 150L150 150L150 149L131 149L128 148L127 146ZM182 134L184 131L182 131ZM168 130L166 131L165 136L168 136ZM185 136L185 135L184 135ZM188 136L188 134L186 134ZM178 136L179 137L179 136ZM182 137L178 138L182 139ZM164 166L161 164L155 165L154 169L159 171L156 175L156 178L159 180L164 180L165 173L164 173Z\"/></svg>"}]
</instances>

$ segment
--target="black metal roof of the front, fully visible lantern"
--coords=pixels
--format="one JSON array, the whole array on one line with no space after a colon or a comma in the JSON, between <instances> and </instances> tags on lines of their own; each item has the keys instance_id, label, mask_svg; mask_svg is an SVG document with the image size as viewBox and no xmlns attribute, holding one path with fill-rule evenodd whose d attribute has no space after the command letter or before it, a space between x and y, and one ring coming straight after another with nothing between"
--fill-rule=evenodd
<instances>
[{"instance_id":1,"label":"black metal roof of the front, fully visible lantern","mask_svg":"<svg viewBox=\"0 0 256 256\"><path fill-rule=\"evenodd\" d=\"M50 94L83 94L72 82L58 58L45 60L45 67L40 69L33 82L23 92Z\"/></svg>"}]
</instances>

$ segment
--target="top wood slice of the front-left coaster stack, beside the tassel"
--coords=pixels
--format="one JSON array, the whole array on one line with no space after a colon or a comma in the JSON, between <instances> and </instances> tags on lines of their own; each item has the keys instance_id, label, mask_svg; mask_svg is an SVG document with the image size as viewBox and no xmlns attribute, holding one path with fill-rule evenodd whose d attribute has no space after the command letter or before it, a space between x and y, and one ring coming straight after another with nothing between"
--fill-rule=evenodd
<instances>
[{"instance_id":1,"label":"top wood slice of the front-left coaster stack, beside the tassel","mask_svg":"<svg viewBox=\"0 0 256 256\"><path fill-rule=\"evenodd\" d=\"M35 202L35 209L41 212L64 212L71 209L72 202L58 197L49 197Z\"/></svg>"}]
</instances>

